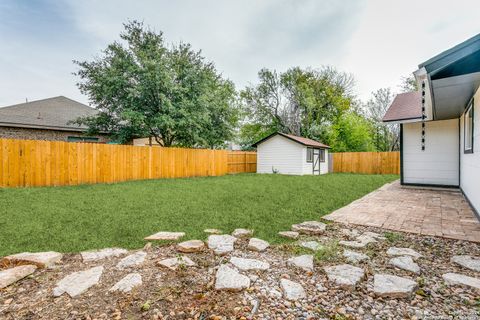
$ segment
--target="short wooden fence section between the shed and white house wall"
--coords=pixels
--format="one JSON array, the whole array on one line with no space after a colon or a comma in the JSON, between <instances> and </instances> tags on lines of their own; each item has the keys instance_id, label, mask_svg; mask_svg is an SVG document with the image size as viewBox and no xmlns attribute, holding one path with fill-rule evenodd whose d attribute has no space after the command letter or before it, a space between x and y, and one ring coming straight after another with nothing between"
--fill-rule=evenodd
<instances>
[{"instance_id":1,"label":"short wooden fence section between the shed and white house wall","mask_svg":"<svg viewBox=\"0 0 480 320\"><path fill-rule=\"evenodd\" d=\"M400 152L333 153L333 172L400 174Z\"/></svg>"}]
</instances>

